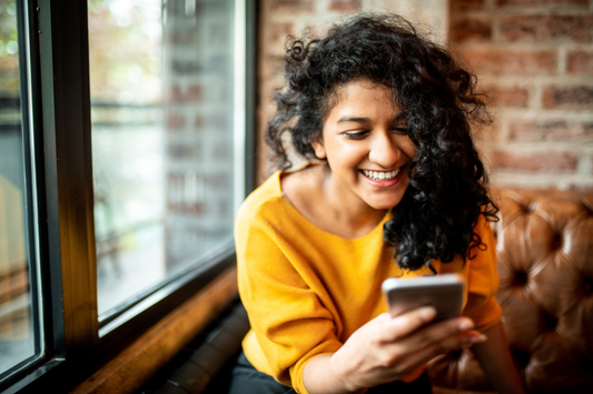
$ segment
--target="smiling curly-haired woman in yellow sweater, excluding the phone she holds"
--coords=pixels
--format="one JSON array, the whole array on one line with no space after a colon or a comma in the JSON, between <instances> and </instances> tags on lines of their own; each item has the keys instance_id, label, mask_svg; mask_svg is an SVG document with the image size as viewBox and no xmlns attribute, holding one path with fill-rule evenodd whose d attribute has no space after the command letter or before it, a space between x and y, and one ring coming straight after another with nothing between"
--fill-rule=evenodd
<instances>
[{"instance_id":1,"label":"smiling curly-haired woman in yellow sweater, excluding the phone she holds","mask_svg":"<svg viewBox=\"0 0 593 394\"><path fill-rule=\"evenodd\" d=\"M231 392L429 393L425 364L472 346L500 393L522 393L494 297L475 78L396 16L295 40L285 68L267 130L280 170L236 220L251 331ZM286 171L284 133L322 164ZM467 280L462 317L386 313L385 279L449 272Z\"/></svg>"}]
</instances>

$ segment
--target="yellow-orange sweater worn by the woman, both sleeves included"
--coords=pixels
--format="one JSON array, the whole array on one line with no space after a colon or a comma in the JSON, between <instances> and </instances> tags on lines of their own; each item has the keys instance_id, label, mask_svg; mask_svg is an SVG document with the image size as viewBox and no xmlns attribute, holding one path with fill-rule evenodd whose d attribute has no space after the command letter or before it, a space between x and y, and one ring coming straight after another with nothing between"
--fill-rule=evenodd
<instances>
[{"instance_id":1,"label":"yellow-orange sweater worn by the woman, both sleeves included","mask_svg":"<svg viewBox=\"0 0 593 394\"><path fill-rule=\"evenodd\" d=\"M385 279L432 274L426 266L414 272L397 266L383 242L386 221L356 240L327 233L283 198L279 171L247 198L235 222L235 242L239 293L251 324L243 348L258 371L307 393L305 364L335 353L358 327L387 311L380 291ZM465 265L459 257L433 266L466 277L463 314L484 331L501 319L494 297L498 276L494 236L483 216L475 231L486 251Z\"/></svg>"}]
</instances>

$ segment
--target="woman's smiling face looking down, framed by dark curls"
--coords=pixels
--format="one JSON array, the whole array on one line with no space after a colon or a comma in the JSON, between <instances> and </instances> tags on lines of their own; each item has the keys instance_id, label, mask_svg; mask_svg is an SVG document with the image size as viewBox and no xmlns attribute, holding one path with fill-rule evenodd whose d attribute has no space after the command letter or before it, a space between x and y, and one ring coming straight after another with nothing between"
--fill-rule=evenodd
<instances>
[{"instance_id":1,"label":"woman's smiling face looking down, framed by dark curls","mask_svg":"<svg viewBox=\"0 0 593 394\"><path fill-rule=\"evenodd\" d=\"M324 122L323 141L312 143L332 169L330 186L350 203L394 208L409 184L407 169L416 149L391 89L354 81L339 88L337 98Z\"/></svg>"}]
</instances>

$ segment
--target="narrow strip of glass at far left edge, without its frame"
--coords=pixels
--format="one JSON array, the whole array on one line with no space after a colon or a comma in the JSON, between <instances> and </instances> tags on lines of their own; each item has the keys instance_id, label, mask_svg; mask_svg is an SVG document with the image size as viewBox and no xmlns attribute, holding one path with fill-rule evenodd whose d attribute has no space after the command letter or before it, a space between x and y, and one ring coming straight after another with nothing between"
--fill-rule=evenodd
<instances>
[{"instance_id":1,"label":"narrow strip of glass at far left edge, without its frame","mask_svg":"<svg viewBox=\"0 0 593 394\"><path fill-rule=\"evenodd\" d=\"M17 36L0 0L0 375L36 354Z\"/></svg>"}]
</instances>

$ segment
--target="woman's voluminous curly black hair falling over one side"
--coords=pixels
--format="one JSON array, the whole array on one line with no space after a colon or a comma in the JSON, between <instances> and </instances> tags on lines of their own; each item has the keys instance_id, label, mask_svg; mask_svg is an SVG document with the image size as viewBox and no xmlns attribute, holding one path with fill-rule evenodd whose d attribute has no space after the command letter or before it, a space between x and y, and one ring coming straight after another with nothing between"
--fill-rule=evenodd
<instances>
[{"instance_id":1,"label":"woman's voluminous curly black hair falling over one side","mask_svg":"<svg viewBox=\"0 0 593 394\"><path fill-rule=\"evenodd\" d=\"M266 132L279 168L290 166L285 132L299 154L315 156L312 141L322 139L337 88L357 80L385 85L407 119L407 135L417 150L409 186L384 226L397 264L432 269L431 259L448 263L459 254L465 261L485 247L473 229L481 214L495 221L498 208L488 196L471 129L492 120L476 77L447 50L399 16L360 14L334 26L322 40L306 43L289 37L285 77Z\"/></svg>"}]
</instances>

